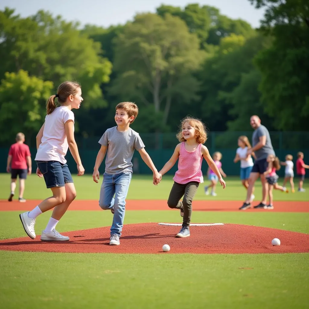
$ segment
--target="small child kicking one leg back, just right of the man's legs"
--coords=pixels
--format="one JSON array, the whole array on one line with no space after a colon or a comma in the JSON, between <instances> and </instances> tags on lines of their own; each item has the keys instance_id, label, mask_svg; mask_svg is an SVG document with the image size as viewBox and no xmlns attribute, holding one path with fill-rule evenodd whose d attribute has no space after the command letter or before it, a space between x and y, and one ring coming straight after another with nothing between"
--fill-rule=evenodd
<instances>
[{"instance_id":1,"label":"small child kicking one leg back, just right of the man's legs","mask_svg":"<svg viewBox=\"0 0 309 309\"><path fill-rule=\"evenodd\" d=\"M276 174L276 171L280 170L280 161L278 157L274 155L269 155L267 157L268 167L264 172L266 180L268 182L268 197L269 205L264 206L264 209L273 209L273 189L281 190L288 193L289 191L277 184L279 176Z\"/></svg>"}]
</instances>

